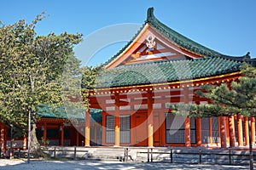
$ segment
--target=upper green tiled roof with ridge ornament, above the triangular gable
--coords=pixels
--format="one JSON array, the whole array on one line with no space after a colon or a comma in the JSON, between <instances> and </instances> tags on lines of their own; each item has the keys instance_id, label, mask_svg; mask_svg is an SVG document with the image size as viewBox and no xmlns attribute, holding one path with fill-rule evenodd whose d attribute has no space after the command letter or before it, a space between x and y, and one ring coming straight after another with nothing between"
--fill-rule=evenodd
<instances>
[{"instance_id":1,"label":"upper green tiled roof with ridge ornament, above the triangular gable","mask_svg":"<svg viewBox=\"0 0 256 170\"><path fill-rule=\"evenodd\" d=\"M148 24L154 28L154 31L157 31L162 35L163 37L166 37L170 42L176 44L178 47L183 48L185 50L191 51L195 54L199 54L203 57L223 57L227 59L235 59L235 60L248 60L251 61L251 59L247 59L249 55L244 56L228 56L225 54L220 54L210 48L207 48L205 46L202 46L201 44L194 42L193 40L189 39L188 37L184 37L183 35L179 34L177 31L173 31L170 27L164 25L160 22L160 20L157 20L154 17L154 8L148 8L148 16L147 20L145 20L145 23L141 27L139 31L137 31L136 35L131 38L131 41L128 42L124 48L121 48L117 54L115 54L111 59L108 59L108 61L105 63L105 65L108 65L110 62L113 61L113 59L117 58L119 54L121 54L123 51L125 51L125 48L128 48L131 42L137 37L137 35L143 30L143 27ZM255 64L256 60L254 59L253 63Z\"/></svg>"}]
</instances>

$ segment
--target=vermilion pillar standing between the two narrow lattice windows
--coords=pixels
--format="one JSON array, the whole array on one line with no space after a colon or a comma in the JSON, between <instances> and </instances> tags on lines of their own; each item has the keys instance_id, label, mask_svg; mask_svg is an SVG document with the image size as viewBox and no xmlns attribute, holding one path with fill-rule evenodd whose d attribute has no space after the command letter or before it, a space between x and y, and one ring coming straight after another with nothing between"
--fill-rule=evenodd
<instances>
[{"instance_id":1,"label":"vermilion pillar standing between the two narrow lattice windows","mask_svg":"<svg viewBox=\"0 0 256 170\"><path fill-rule=\"evenodd\" d=\"M115 110L114 110L114 146L120 145L120 117L119 117L119 95L115 95Z\"/></svg>"}]
</instances>

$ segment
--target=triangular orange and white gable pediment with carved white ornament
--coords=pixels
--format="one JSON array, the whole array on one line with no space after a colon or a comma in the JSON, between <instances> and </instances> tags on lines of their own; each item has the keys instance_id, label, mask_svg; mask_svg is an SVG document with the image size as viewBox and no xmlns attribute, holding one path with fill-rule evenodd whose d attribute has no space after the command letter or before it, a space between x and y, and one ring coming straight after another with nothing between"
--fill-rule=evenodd
<instances>
[{"instance_id":1,"label":"triangular orange and white gable pediment with carved white ornament","mask_svg":"<svg viewBox=\"0 0 256 170\"><path fill-rule=\"evenodd\" d=\"M184 59L186 57L197 58L195 54L189 54L165 37L154 31L150 25L145 25L143 30L134 38L130 46L119 54L107 65L107 68L132 63L142 63L160 59Z\"/></svg>"}]
</instances>

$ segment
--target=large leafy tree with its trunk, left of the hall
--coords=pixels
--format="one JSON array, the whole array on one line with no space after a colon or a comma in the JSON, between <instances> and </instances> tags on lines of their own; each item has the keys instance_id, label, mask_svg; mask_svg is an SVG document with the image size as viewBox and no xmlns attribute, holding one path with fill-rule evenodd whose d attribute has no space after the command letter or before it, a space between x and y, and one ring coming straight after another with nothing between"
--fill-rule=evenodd
<instances>
[{"instance_id":1,"label":"large leafy tree with its trunk, left of the hall","mask_svg":"<svg viewBox=\"0 0 256 170\"><path fill-rule=\"evenodd\" d=\"M61 76L67 59L74 59L73 46L82 35L35 31L39 14L31 24L19 20L0 27L0 118L7 125L27 129L32 113L31 146L33 156L41 156L36 138L36 121L40 104L61 105ZM0 22L1 23L1 22Z\"/></svg>"}]
</instances>

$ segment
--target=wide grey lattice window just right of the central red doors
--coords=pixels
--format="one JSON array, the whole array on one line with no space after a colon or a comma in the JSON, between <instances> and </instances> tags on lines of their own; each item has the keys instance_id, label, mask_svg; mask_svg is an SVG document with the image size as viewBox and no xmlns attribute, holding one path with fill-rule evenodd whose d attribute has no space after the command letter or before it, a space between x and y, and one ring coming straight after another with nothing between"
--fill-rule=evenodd
<instances>
[{"instance_id":1,"label":"wide grey lattice window just right of the central red doors","mask_svg":"<svg viewBox=\"0 0 256 170\"><path fill-rule=\"evenodd\" d=\"M184 143L184 117L166 114L166 143Z\"/></svg>"}]
</instances>

